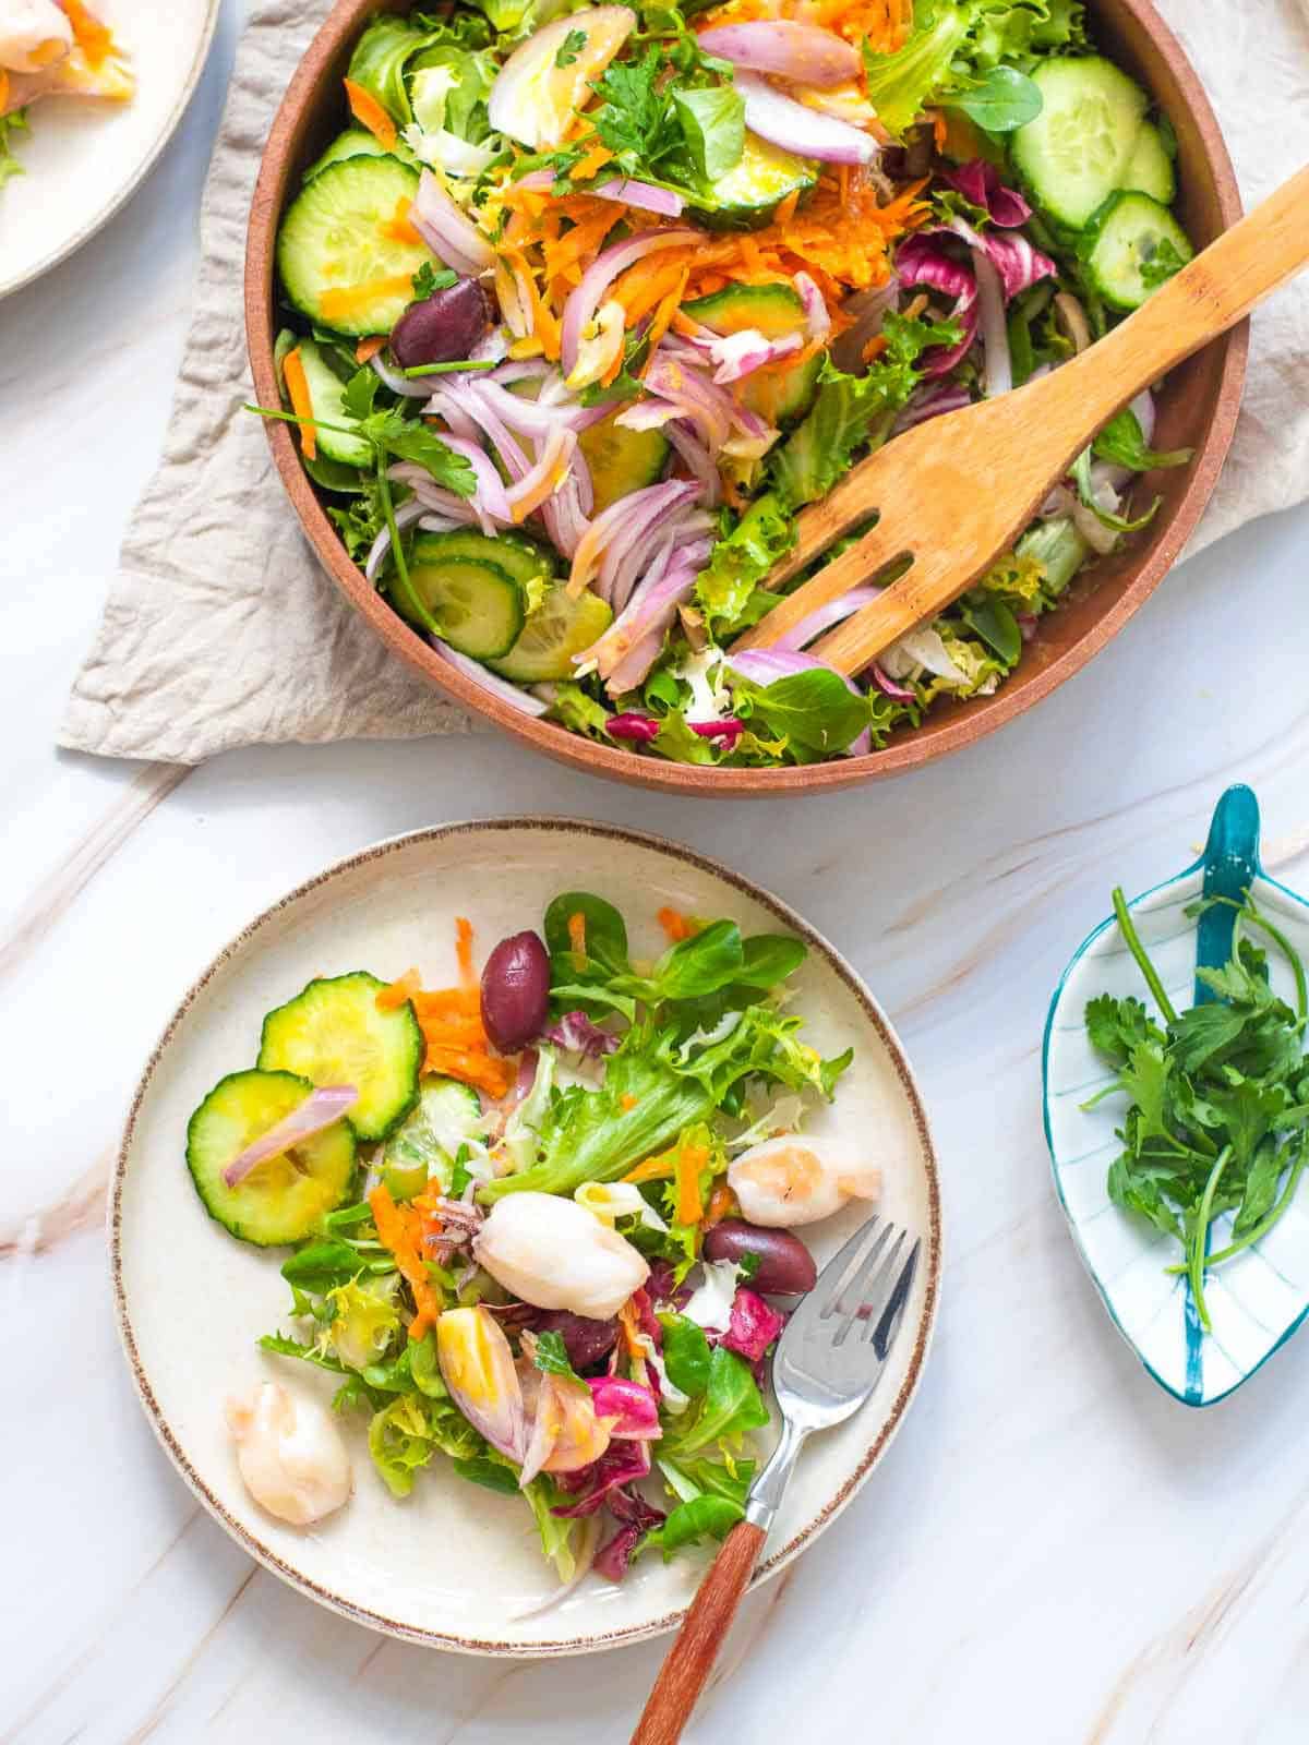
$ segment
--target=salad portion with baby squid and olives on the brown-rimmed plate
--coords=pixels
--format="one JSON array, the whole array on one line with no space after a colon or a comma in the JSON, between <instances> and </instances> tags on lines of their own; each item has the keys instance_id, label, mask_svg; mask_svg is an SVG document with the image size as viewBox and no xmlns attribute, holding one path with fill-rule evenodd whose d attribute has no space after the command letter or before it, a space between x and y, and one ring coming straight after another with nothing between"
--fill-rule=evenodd
<instances>
[{"instance_id":1,"label":"salad portion with baby squid and olives on the brown-rimmed plate","mask_svg":"<svg viewBox=\"0 0 1309 1745\"><path fill-rule=\"evenodd\" d=\"M187 1164L234 1237L291 1246L291 1372L229 1405L253 1497L307 1525L347 1502L342 1417L396 1497L422 1469L520 1495L567 1586L742 1516L764 1358L817 1276L792 1227L873 1199L869 1139L801 1138L850 1052L792 1012L806 948L660 911L634 960L585 892L459 981L309 982L258 1061L190 1119ZM782 1307L778 1307L782 1305Z\"/></svg>"}]
</instances>

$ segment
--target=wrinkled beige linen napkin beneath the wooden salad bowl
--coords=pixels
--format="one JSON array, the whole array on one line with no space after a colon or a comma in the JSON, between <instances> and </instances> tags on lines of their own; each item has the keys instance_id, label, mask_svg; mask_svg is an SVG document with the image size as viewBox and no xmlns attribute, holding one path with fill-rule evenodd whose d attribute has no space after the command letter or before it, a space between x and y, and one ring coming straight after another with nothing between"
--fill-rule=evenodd
<instances>
[{"instance_id":1,"label":"wrinkled beige linen napkin beneath the wooden salad bowl","mask_svg":"<svg viewBox=\"0 0 1309 1745\"><path fill-rule=\"evenodd\" d=\"M1304 0L1155 0L1201 72L1246 204L1309 162ZM204 190L195 309L159 471L136 508L59 743L201 763L237 745L464 733L319 571L251 398L250 195L272 113L330 0L255 0ZM1309 496L1309 277L1255 316L1232 457L1190 550Z\"/></svg>"}]
</instances>

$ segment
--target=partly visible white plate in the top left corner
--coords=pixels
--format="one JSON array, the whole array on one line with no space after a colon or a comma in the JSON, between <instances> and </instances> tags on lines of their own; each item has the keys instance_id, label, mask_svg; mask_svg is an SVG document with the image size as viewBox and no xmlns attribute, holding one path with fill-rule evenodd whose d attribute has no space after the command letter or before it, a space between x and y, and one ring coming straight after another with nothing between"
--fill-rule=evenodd
<instances>
[{"instance_id":1,"label":"partly visible white plate in the top left corner","mask_svg":"<svg viewBox=\"0 0 1309 1745\"><path fill-rule=\"evenodd\" d=\"M0 188L0 297L65 260L140 187L199 84L220 0L103 0L136 73L131 103L45 98Z\"/></svg>"}]
</instances>

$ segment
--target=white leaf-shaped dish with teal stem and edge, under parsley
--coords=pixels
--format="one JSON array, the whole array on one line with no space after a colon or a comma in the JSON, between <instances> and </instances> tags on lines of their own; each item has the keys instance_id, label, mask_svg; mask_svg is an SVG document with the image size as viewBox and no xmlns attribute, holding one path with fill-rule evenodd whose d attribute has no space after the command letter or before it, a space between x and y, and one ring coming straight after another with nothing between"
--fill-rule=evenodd
<instances>
[{"instance_id":1,"label":"white leaf-shaped dish with teal stem and edge, under parsley","mask_svg":"<svg viewBox=\"0 0 1309 1745\"><path fill-rule=\"evenodd\" d=\"M1230 909L1211 909L1196 921L1187 906L1201 895L1239 902L1246 890L1309 958L1309 902L1264 872L1258 803L1248 787L1229 787L1203 857L1129 904L1178 1010L1211 998L1194 984L1196 968L1220 967L1232 946ZM1269 970L1274 989L1293 1003L1292 972L1276 953ZM1208 1406L1253 1375L1309 1312L1309 1206L1299 1194L1265 1237L1206 1276L1213 1331L1204 1333L1185 1276L1166 1272L1180 1258L1178 1244L1114 1206L1105 1187L1121 1150L1114 1129L1122 1122L1124 1099L1082 1106L1114 1078L1086 1035L1086 1002L1098 993L1136 995L1159 1017L1112 916L1079 946L1045 1023L1042 1073L1054 1188L1117 1330L1175 1399ZM1230 1213L1218 1218L1213 1242L1222 1246L1230 1225Z\"/></svg>"}]
</instances>

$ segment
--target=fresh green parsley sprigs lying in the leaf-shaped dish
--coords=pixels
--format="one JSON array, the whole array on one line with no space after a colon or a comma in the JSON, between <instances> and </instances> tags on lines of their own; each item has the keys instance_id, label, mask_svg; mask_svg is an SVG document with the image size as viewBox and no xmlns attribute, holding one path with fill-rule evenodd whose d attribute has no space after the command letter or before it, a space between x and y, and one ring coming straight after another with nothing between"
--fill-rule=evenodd
<instances>
[{"instance_id":1,"label":"fresh green parsley sprigs lying in the leaf-shaped dish","mask_svg":"<svg viewBox=\"0 0 1309 1745\"><path fill-rule=\"evenodd\" d=\"M1187 914L1199 916L1211 904L1229 899L1192 904ZM1119 1070L1093 1103L1129 1099L1108 1194L1182 1244L1185 1258L1169 1270L1189 1276L1208 1331L1206 1272L1269 1234L1309 1162L1309 979L1292 942L1246 895L1236 907L1230 960L1196 972L1213 998L1176 1012L1121 890L1114 913L1162 1026L1140 1000L1100 995L1086 1007L1093 1047ZM1267 951L1251 932L1290 965L1295 1009L1272 993ZM1223 1213L1236 1215L1229 1239L1210 1253L1213 1222Z\"/></svg>"}]
</instances>

